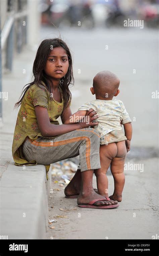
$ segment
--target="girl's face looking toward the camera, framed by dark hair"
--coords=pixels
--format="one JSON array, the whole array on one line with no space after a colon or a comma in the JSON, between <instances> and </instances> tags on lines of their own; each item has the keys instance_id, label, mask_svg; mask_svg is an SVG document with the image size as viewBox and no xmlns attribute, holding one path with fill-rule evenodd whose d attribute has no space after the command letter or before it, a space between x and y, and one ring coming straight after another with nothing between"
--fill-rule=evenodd
<instances>
[{"instance_id":1,"label":"girl's face looking toward the camera, framed by dark hair","mask_svg":"<svg viewBox=\"0 0 159 256\"><path fill-rule=\"evenodd\" d=\"M60 46L50 51L44 71L54 79L60 79L68 70L69 62L66 51Z\"/></svg>"}]
</instances>

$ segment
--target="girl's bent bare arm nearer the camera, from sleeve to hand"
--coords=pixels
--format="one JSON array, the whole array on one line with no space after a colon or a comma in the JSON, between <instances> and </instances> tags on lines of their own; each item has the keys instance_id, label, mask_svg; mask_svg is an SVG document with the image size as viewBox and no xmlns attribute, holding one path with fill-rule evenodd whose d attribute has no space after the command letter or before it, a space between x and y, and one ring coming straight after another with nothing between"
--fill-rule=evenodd
<instances>
[{"instance_id":1,"label":"girl's bent bare arm nearer the camera, from sleeve to hand","mask_svg":"<svg viewBox=\"0 0 159 256\"><path fill-rule=\"evenodd\" d=\"M42 136L44 137L57 136L70 131L74 131L76 129L82 129L82 128L86 128L86 127L98 124L98 122L92 123L93 120L97 119L97 117L95 116L90 118L89 124L87 124L86 122L81 122L76 124L56 125L56 124L50 123L47 108L42 106L35 106L35 113L36 113L39 129L41 131Z\"/></svg>"}]
</instances>

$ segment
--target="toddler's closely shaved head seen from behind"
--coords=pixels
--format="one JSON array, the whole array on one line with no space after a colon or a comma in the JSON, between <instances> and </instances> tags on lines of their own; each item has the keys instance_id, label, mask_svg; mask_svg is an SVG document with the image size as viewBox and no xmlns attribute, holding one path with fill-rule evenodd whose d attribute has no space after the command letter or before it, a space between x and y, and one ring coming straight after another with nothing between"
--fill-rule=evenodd
<instances>
[{"instance_id":1,"label":"toddler's closely shaved head seen from behind","mask_svg":"<svg viewBox=\"0 0 159 256\"><path fill-rule=\"evenodd\" d=\"M96 96L105 98L106 93L108 97L113 97L119 87L119 78L110 71L101 71L93 79L93 88Z\"/></svg>"}]
</instances>

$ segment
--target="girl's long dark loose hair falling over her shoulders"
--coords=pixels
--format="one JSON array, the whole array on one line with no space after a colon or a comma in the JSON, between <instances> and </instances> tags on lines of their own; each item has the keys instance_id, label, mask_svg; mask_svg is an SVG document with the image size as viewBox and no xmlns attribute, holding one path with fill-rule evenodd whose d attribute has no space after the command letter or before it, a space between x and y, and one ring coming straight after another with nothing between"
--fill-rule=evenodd
<instances>
[{"instance_id":1,"label":"girl's long dark loose hair falling over her shoulders","mask_svg":"<svg viewBox=\"0 0 159 256\"><path fill-rule=\"evenodd\" d=\"M50 86L49 82L52 83L52 81L48 77L48 75L45 73L45 71L43 70L45 67L46 61L48 59L49 53L51 51L50 50L51 46L53 46L53 48L61 46L66 51L66 54L68 55L68 61L69 61L68 71L65 74L65 76L63 76L60 79L59 86L62 89L62 93L63 93L63 100L64 100L63 109L66 109L67 106L69 105L69 102L72 99L72 95L71 95L71 92L68 87L69 87L69 84L71 84L71 82L72 82L72 85L74 85L72 56L71 56L71 53L70 53L70 50L69 50L67 44L63 40L61 40L59 38L52 38L52 39L45 39L41 42L41 44L38 48L36 57L35 57L34 64L33 64L34 81L27 84L28 86L25 85L25 86L27 86L27 88L25 88L22 91L21 95L23 94L23 92L24 92L24 94L22 97L20 95L21 99L19 97L20 100L15 103L14 108L18 107L21 104L21 101L22 101L25 93L27 92L28 88L30 88L31 85L33 85L33 84L36 84L37 86L39 86L39 85L44 86L42 83L42 82L44 82L47 87L47 90L49 91L49 93L51 93L51 86Z\"/></svg>"}]
</instances>

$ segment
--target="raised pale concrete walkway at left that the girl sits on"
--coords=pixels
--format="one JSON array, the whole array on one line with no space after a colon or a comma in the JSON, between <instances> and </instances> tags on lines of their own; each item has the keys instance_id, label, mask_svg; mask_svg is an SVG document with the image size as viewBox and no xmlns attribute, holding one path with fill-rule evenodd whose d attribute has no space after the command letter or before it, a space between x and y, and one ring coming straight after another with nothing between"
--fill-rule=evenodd
<instances>
[{"instance_id":1,"label":"raised pale concrete walkway at left that the girl sits on","mask_svg":"<svg viewBox=\"0 0 159 256\"><path fill-rule=\"evenodd\" d=\"M49 181L44 165L15 166L12 141L18 110L13 111L22 88L31 81L35 52L25 49L14 59L13 72L3 74L3 126L0 136L0 239L43 239L48 229ZM23 73L25 70L25 73Z\"/></svg>"}]
</instances>

